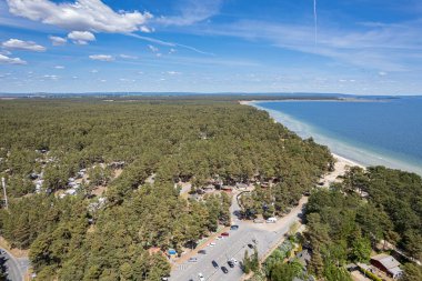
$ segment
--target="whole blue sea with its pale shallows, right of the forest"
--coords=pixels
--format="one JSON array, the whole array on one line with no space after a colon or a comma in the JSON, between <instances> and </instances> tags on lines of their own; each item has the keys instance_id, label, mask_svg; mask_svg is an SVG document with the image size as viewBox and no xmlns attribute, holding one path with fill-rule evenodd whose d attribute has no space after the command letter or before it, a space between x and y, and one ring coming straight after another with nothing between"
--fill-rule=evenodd
<instances>
[{"instance_id":1,"label":"whole blue sea with its pale shallows, right of the forest","mask_svg":"<svg viewBox=\"0 0 422 281\"><path fill-rule=\"evenodd\" d=\"M364 165L422 174L422 97L358 101L259 101L302 138Z\"/></svg>"}]
</instances>

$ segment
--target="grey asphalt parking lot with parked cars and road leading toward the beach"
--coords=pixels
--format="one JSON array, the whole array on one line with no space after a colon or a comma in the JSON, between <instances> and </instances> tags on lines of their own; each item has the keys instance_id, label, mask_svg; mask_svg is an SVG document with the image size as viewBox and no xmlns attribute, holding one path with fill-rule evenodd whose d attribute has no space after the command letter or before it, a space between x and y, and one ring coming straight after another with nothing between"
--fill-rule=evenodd
<instances>
[{"instance_id":1,"label":"grey asphalt parking lot with parked cars and road leading toward the beach","mask_svg":"<svg viewBox=\"0 0 422 281\"><path fill-rule=\"evenodd\" d=\"M239 210L239 205L233 200L230 211L232 212L232 223L239 225L239 230L230 230L230 235L221 240L214 240L214 247L205 247L207 254L192 255L198 258L198 262L188 262L175 268L171 272L169 280L171 281L189 281L199 280L198 274L202 273L207 281L234 281L240 280L243 272L238 263L234 268L228 265L228 260L231 258L237 259L239 262L243 260L244 251L250 254L253 253L253 249L249 249L248 243L257 244L260 258L271 250L284 234L289 231L290 225L299 221L299 214L302 212L302 205L307 200L302 200L301 204L294 208L287 217L280 220L278 223L255 224L252 222L239 221L233 215L235 210ZM252 242L252 241L255 241ZM188 253L189 254L189 253ZM212 261L219 264L219 268L212 265ZM221 267L225 267L229 273L223 273Z\"/></svg>"}]
</instances>

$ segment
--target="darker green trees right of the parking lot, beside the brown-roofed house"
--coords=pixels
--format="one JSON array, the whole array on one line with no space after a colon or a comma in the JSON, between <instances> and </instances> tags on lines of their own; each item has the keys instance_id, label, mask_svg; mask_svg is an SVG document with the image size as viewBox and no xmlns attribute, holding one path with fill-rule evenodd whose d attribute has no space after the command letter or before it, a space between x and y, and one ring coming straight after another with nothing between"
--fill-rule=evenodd
<instances>
[{"instance_id":1,"label":"darker green trees right of the parking lot, beside the brown-roofed house","mask_svg":"<svg viewBox=\"0 0 422 281\"><path fill-rule=\"evenodd\" d=\"M362 199L361 194L365 194ZM340 265L368 263L381 240L422 258L422 179L384 167L353 167L342 183L318 190L307 205L309 270L324 280L348 280ZM422 268L408 260L403 280L420 280Z\"/></svg>"}]
</instances>

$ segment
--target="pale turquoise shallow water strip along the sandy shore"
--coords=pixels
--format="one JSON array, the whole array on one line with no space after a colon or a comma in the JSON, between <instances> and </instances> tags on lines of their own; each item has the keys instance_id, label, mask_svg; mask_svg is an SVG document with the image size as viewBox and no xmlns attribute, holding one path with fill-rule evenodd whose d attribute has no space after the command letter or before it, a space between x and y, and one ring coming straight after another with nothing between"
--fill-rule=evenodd
<instances>
[{"instance_id":1,"label":"pale turquoise shallow water strip along the sandy shore","mask_svg":"<svg viewBox=\"0 0 422 281\"><path fill-rule=\"evenodd\" d=\"M291 114L279 110L268 109L260 106L260 101L242 101L242 104L249 104L257 109L264 110L277 121L285 126L289 130L295 132L299 137L307 139L313 138L315 142L328 145L334 157L341 157L351 163L363 167L385 165L393 169L415 172L422 174L422 165L413 162L401 154L373 148L366 143L352 141L350 139L335 136L322 127L311 126L303 120L299 120Z\"/></svg>"}]
</instances>

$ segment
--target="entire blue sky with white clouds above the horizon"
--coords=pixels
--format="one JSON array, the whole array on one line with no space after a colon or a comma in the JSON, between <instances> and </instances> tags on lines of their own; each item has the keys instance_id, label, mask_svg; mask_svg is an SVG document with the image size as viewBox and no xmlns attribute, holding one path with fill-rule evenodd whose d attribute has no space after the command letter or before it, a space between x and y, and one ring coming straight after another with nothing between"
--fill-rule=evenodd
<instances>
[{"instance_id":1,"label":"entire blue sky with white clouds above the horizon","mask_svg":"<svg viewBox=\"0 0 422 281\"><path fill-rule=\"evenodd\" d=\"M422 1L0 0L0 92L422 94Z\"/></svg>"}]
</instances>

